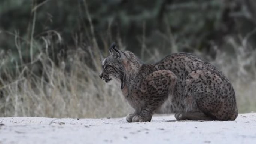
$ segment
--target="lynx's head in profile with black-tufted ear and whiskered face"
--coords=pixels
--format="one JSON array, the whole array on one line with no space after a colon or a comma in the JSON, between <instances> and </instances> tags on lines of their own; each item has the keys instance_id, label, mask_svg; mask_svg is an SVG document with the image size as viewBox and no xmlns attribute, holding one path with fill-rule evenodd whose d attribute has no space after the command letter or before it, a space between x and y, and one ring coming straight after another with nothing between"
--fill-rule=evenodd
<instances>
[{"instance_id":1,"label":"lynx's head in profile with black-tufted ear and whiskered face","mask_svg":"<svg viewBox=\"0 0 256 144\"><path fill-rule=\"evenodd\" d=\"M121 80L122 87L125 79L124 61L127 61L127 55L116 48L115 42L110 46L109 53L110 55L102 61L100 78L105 82L109 82L112 79Z\"/></svg>"}]
</instances>

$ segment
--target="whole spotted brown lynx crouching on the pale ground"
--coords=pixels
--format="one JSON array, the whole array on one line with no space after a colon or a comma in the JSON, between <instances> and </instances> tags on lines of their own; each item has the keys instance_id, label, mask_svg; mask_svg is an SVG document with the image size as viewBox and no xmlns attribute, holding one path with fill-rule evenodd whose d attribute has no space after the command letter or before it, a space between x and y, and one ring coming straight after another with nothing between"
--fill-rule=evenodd
<instances>
[{"instance_id":1,"label":"whole spotted brown lynx crouching on the pale ground","mask_svg":"<svg viewBox=\"0 0 256 144\"><path fill-rule=\"evenodd\" d=\"M151 121L168 105L177 120L235 120L237 104L229 80L216 67L189 53L174 53L156 64L144 64L113 43L102 62L100 78L118 79L135 109L128 122Z\"/></svg>"}]
</instances>

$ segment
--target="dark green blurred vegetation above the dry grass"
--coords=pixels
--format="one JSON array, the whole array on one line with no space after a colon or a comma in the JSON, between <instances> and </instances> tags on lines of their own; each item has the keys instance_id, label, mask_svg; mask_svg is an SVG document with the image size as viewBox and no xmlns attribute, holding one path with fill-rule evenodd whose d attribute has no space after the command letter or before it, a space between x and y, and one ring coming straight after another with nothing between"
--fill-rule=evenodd
<instances>
[{"instance_id":1,"label":"dark green blurred vegetation above the dry grass","mask_svg":"<svg viewBox=\"0 0 256 144\"><path fill-rule=\"evenodd\" d=\"M256 25L253 0L87 0L86 5L85 2L1 1L0 28L17 31L29 40L36 12L35 37L55 30L61 33L66 45L75 45L76 36L81 38L79 42L89 44L92 33L87 5L100 48L121 39L129 50L137 53L142 43L165 50L174 42L180 51L197 49L213 54L213 47L224 45L226 36L244 37ZM2 49L16 49L9 38L2 34Z\"/></svg>"}]
</instances>

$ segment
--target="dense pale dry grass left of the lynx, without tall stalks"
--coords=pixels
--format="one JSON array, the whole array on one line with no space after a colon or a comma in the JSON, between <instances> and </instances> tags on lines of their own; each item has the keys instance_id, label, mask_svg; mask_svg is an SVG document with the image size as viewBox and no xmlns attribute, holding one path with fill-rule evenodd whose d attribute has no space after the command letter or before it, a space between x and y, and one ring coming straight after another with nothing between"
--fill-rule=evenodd
<instances>
[{"instance_id":1,"label":"dense pale dry grass left of the lynx, without tall stalks","mask_svg":"<svg viewBox=\"0 0 256 144\"><path fill-rule=\"evenodd\" d=\"M81 60L87 54L85 51L70 53L69 72L65 70L64 61L57 67L45 53L36 55L34 61L43 67L41 77L33 73L33 67L16 65L18 77L13 78L12 69L4 65L10 57L1 59L1 71L8 77L0 79L3 95L0 116L119 117L127 114L130 109L119 85L106 85L98 77L98 71Z\"/></svg>"}]
</instances>

